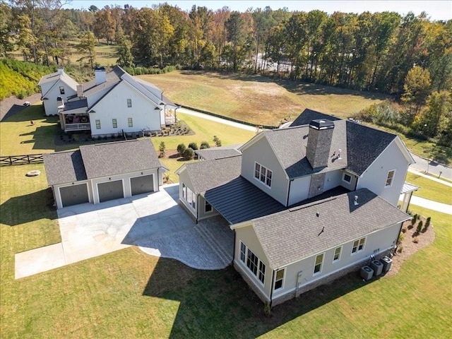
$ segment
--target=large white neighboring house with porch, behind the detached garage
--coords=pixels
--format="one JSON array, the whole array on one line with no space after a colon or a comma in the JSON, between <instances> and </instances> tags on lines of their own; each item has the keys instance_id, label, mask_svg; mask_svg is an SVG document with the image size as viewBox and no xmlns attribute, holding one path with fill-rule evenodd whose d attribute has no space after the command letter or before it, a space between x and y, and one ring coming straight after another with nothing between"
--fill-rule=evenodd
<instances>
[{"instance_id":1,"label":"large white neighboring house with porch, behind the detached garage","mask_svg":"<svg viewBox=\"0 0 452 339\"><path fill-rule=\"evenodd\" d=\"M44 78L47 79L43 77L40 81L43 93L42 86L47 85ZM64 78L71 79L66 75ZM66 132L90 131L96 138L160 131L162 126L176 122L177 105L168 100L162 90L133 78L119 66L108 73L103 67L96 68L93 81L83 85L73 81L73 84L76 88L71 88L71 95L49 97L50 104L55 105L49 112L53 114L57 109L61 129ZM54 85L57 88L55 86L57 84ZM54 90L50 93L54 95Z\"/></svg>"}]
</instances>

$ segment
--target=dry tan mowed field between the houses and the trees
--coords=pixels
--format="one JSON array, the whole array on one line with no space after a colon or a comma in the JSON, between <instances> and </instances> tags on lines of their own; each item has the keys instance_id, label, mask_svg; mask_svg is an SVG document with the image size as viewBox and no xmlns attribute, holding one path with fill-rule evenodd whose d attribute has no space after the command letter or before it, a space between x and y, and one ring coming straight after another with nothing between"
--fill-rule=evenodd
<instances>
[{"instance_id":1,"label":"dry tan mowed field between the houses and the trees","mask_svg":"<svg viewBox=\"0 0 452 339\"><path fill-rule=\"evenodd\" d=\"M231 73L173 71L138 77L154 83L180 105L268 126L295 119L305 108L346 119L388 97Z\"/></svg>"}]
</instances>

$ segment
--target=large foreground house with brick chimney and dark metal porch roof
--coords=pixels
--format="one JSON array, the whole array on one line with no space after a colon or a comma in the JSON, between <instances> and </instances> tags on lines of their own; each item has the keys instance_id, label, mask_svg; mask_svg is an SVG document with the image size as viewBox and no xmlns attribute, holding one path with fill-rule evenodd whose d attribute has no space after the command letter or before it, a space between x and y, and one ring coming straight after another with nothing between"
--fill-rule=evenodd
<instances>
[{"instance_id":1,"label":"large foreground house with brick chimney and dark metal porch roof","mask_svg":"<svg viewBox=\"0 0 452 339\"><path fill-rule=\"evenodd\" d=\"M239 151L179 168L179 201L195 220L230 223L234 267L263 301L278 304L396 249L410 219L398 198L414 163L398 136L306 109Z\"/></svg>"}]
</instances>

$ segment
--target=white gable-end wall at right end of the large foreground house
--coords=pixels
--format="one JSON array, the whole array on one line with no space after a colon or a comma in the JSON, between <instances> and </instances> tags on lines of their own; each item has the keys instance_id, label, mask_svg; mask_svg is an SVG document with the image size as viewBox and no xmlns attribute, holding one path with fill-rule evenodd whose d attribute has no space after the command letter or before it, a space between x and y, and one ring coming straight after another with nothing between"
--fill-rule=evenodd
<instances>
[{"instance_id":1,"label":"white gable-end wall at right end of the large foreground house","mask_svg":"<svg viewBox=\"0 0 452 339\"><path fill-rule=\"evenodd\" d=\"M405 182L408 171L408 165L408 160L393 141L362 174L362 177L358 180L357 189L367 188L393 206L397 206L400 191L402 191L403 182ZM396 169L393 182L391 186L386 187L388 172L393 169Z\"/></svg>"}]
</instances>

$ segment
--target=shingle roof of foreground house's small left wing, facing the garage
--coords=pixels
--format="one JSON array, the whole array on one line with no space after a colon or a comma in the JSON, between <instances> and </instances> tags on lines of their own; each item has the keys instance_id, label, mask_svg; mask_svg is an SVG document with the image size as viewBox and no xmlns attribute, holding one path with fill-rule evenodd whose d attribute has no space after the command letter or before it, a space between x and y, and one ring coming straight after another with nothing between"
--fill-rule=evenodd
<instances>
[{"instance_id":1,"label":"shingle roof of foreground house's small left wing, facing the garage","mask_svg":"<svg viewBox=\"0 0 452 339\"><path fill-rule=\"evenodd\" d=\"M240 175L242 155L218 160L203 160L186 164L196 194L230 182Z\"/></svg>"}]
</instances>

